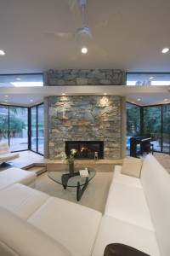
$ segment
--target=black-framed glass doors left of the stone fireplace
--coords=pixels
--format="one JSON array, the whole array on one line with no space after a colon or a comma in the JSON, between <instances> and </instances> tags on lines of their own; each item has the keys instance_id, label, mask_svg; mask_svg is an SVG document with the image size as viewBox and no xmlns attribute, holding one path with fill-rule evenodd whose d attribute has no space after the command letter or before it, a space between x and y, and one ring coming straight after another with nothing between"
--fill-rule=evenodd
<instances>
[{"instance_id":1,"label":"black-framed glass doors left of the stone fireplace","mask_svg":"<svg viewBox=\"0 0 170 256\"><path fill-rule=\"evenodd\" d=\"M43 121L43 104L32 108L1 105L0 141L7 141L11 151L31 149L43 154Z\"/></svg>"}]
</instances>

